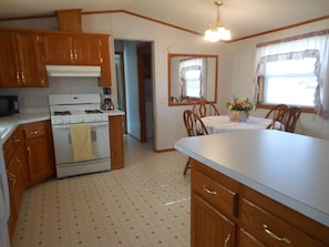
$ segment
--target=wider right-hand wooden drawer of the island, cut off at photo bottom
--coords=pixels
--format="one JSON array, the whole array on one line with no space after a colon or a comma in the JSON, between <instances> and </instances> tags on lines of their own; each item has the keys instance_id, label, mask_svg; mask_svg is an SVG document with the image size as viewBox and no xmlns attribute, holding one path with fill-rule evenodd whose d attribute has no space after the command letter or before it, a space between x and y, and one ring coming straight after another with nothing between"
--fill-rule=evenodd
<instances>
[{"instance_id":1,"label":"wider right-hand wooden drawer of the island, cut off at photo bottom","mask_svg":"<svg viewBox=\"0 0 329 247\"><path fill-rule=\"evenodd\" d=\"M240 209L244 228L266 246L325 247L284 219L245 198L241 199Z\"/></svg>"}]
</instances>

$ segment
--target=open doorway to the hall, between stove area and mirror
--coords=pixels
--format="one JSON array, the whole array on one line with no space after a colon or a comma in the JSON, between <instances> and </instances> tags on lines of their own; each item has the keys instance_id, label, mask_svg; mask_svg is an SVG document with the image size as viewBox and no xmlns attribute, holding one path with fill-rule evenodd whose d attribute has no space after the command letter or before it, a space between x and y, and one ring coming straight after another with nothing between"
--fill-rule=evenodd
<instances>
[{"instance_id":1,"label":"open doorway to the hall, between stove area and mirror","mask_svg":"<svg viewBox=\"0 0 329 247\"><path fill-rule=\"evenodd\" d=\"M153 142L152 42L114 40L117 107L125 112L125 133Z\"/></svg>"}]
</instances>

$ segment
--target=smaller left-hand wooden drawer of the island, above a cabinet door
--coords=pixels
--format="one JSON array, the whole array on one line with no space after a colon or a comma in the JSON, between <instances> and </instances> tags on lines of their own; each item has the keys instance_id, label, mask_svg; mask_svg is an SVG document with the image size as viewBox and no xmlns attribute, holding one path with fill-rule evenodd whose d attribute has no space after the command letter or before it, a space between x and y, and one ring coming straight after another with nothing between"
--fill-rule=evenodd
<instances>
[{"instance_id":1,"label":"smaller left-hand wooden drawer of the island, above a cabinet door","mask_svg":"<svg viewBox=\"0 0 329 247\"><path fill-rule=\"evenodd\" d=\"M215 208L237 216L237 194L193 169L192 189Z\"/></svg>"}]
</instances>

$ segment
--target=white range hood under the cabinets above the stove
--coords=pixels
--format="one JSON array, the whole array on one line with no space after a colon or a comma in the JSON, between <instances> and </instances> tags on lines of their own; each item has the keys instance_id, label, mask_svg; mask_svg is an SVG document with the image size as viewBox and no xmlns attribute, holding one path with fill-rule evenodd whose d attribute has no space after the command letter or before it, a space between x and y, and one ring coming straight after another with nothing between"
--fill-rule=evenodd
<instances>
[{"instance_id":1,"label":"white range hood under the cabinets above the stove","mask_svg":"<svg viewBox=\"0 0 329 247\"><path fill-rule=\"evenodd\" d=\"M101 66L45 65L48 76L100 78Z\"/></svg>"}]
</instances>

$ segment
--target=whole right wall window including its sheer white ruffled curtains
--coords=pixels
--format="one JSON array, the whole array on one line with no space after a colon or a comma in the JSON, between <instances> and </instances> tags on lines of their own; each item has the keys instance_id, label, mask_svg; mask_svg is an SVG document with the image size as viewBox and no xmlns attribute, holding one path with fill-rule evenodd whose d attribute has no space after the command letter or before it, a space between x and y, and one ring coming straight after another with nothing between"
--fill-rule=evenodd
<instances>
[{"instance_id":1,"label":"whole right wall window including its sheer white ruffled curtains","mask_svg":"<svg viewBox=\"0 0 329 247\"><path fill-rule=\"evenodd\" d=\"M329 116L329 29L256 45L258 107L290 104Z\"/></svg>"}]
</instances>

